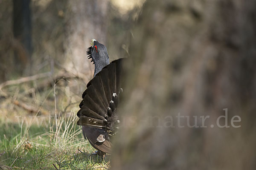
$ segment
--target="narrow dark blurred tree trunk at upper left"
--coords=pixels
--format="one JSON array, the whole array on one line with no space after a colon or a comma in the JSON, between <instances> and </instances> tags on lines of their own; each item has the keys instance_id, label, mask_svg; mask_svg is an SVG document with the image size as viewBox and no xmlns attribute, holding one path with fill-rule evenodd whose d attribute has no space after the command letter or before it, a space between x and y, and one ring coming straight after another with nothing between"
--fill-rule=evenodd
<instances>
[{"instance_id":1,"label":"narrow dark blurred tree trunk at upper left","mask_svg":"<svg viewBox=\"0 0 256 170\"><path fill-rule=\"evenodd\" d=\"M30 0L13 0L13 34L15 40L15 68L23 72L29 66L32 54L32 24ZM30 72L29 69L26 71Z\"/></svg>"}]
</instances>

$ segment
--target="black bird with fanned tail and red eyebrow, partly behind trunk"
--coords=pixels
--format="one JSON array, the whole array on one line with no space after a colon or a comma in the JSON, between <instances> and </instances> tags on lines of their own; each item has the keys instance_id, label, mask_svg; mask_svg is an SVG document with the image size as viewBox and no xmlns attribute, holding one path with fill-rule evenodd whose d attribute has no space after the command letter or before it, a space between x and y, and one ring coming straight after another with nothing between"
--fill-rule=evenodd
<instances>
[{"instance_id":1,"label":"black bird with fanned tail and red eyebrow, partly behind trunk","mask_svg":"<svg viewBox=\"0 0 256 170\"><path fill-rule=\"evenodd\" d=\"M92 40L87 55L95 65L93 79L82 94L77 113L83 135L104 156L111 152L111 137L119 128L118 103L122 93L122 62L124 58L109 63L107 48Z\"/></svg>"}]
</instances>

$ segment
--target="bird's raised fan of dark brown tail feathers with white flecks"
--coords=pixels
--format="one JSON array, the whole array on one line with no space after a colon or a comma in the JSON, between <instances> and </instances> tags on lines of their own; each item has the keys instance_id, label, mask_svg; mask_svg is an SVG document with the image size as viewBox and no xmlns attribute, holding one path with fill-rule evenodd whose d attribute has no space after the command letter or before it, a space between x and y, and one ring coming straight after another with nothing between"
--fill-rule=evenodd
<instances>
[{"instance_id":1,"label":"bird's raised fan of dark brown tail feathers with white flecks","mask_svg":"<svg viewBox=\"0 0 256 170\"><path fill-rule=\"evenodd\" d=\"M114 60L88 82L77 113L78 125L115 130L116 108L122 91L122 60Z\"/></svg>"}]
</instances>

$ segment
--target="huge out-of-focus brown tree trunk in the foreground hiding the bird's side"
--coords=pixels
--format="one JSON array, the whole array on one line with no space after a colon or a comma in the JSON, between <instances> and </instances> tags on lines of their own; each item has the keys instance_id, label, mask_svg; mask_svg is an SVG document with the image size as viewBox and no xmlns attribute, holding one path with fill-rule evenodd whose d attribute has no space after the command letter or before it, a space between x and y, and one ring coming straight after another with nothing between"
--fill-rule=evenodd
<instances>
[{"instance_id":1,"label":"huge out-of-focus brown tree trunk in the foreground hiding the bird's side","mask_svg":"<svg viewBox=\"0 0 256 170\"><path fill-rule=\"evenodd\" d=\"M112 169L255 169L255 9L255 0L145 3L133 31ZM230 127L220 128L225 108ZM189 128L178 113L207 127ZM199 116L210 118L203 124ZM241 127L231 126L233 116Z\"/></svg>"}]
</instances>

